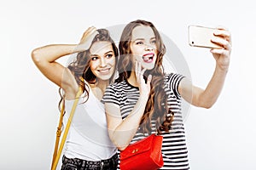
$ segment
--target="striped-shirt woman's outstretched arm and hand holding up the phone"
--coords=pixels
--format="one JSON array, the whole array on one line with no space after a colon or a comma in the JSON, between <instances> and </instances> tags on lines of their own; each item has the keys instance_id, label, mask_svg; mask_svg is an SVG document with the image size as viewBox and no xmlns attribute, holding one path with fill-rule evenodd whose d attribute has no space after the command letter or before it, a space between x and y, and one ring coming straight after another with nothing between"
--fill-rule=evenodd
<instances>
[{"instance_id":1,"label":"striped-shirt woman's outstretched arm and hand holding up the phone","mask_svg":"<svg viewBox=\"0 0 256 170\"><path fill-rule=\"evenodd\" d=\"M221 49L211 49L211 53L216 60L215 71L206 89L195 87L188 79L183 78L179 85L179 93L190 104L210 108L217 101L224 86L226 74L230 65L231 36L230 32L219 28L214 32L215 37L212 42L221 45Z\"/></svg>"}]
</instances>

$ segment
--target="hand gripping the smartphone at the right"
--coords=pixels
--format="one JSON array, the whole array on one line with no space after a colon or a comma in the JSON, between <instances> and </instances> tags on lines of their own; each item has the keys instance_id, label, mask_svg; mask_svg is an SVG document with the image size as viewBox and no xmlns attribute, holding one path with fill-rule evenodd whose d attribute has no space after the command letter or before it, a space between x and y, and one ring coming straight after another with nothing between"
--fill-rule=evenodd
<instances>
[{"instance_id":1,"label":"hand gripping the smartphone at the right","mask_svg":"<svg viewBox=\"0 0 256 170\"><path fill-rule=\"evenodd\" d=\"M212 42L218 43L223 48L212 48L211 53L216 59L217 65L222 70L228 70L230 65L231 54L231 34L230 31L219 27L214 31L214 38Z\"/></svg>"}]
</instances>

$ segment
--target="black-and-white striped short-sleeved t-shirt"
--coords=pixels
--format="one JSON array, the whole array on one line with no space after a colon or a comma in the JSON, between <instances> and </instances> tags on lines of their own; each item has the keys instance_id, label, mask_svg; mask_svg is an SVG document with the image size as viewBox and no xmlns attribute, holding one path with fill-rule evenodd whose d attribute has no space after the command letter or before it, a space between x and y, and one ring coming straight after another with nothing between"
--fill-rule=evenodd
<instances>
[{"instance_id":1,"label":"black-and-white striped short-sleeved t-shirt","mask_svg":"<svg viewBox=\"0 0 256 170\"><path fill-rule=\"evenodd\" d=\"M186 146L183 118L181 113L181 96L177 87L183 76L171 73L165 77L165 91L168 95L167 105L174 113L174 119L169 133L162 132L162 155L164 167L160 169L189 169L188 150ZM139 89L129 82L123 81L111 84L102 98L103 103L119 105L123 119L128 116L139 98ZM152 133L155 132L155 120L152 119ZM145 138L144 134L137 131L131 144Z\"/></svg>"}]
</instances>

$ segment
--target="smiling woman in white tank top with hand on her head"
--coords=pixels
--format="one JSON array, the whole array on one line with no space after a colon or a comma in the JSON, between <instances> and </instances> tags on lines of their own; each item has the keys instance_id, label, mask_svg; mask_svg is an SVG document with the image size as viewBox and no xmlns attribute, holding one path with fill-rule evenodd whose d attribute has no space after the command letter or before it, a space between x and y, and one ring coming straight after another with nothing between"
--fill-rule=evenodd
<instances>
[{"instance_id":1,"label":"smiling woman in white tank top with hand on her head","mask_svg":"<svg viewBox=\"0 0 256 170\"><path fill-rule=\"evenodd\" d=\"M56 61L68 54L77 56L67 67ZM118 56L118 48L108 30L95 27L84 32L79 44L51 44L32 51L38 69L64 91L61 94L66 109L64 126L79 87L83 91L67 136L63 170L113 170L117 167L116 147L109 139L104 105L100 100L113 80ZM88 129L90 131L86 131Z\"/></svg>"}]
</instances>

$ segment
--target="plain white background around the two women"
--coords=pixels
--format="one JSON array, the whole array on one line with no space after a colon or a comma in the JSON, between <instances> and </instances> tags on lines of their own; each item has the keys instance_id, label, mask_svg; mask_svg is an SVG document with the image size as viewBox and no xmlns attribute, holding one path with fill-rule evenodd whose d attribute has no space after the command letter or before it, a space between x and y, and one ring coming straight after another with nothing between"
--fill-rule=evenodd
<instances>
[{"instance_id":1,"label":"plain white background around the two women","mask_svg":"<svg viewBox=\"0 0 256 170\"><path fill-rule=\"evenodd\" d=\"M0 169L49 169L58 122L58 87L38 71L33 48L77 43L97 28L149 20L186 59L193 83L205 88L214 70L208 49L188 45L187 27L225 26L232 33L230 71L209 110L185 117L192 170L256 169L256 22L253 1L53 1L0 3Z\"/></svg>"}]
</instances>

